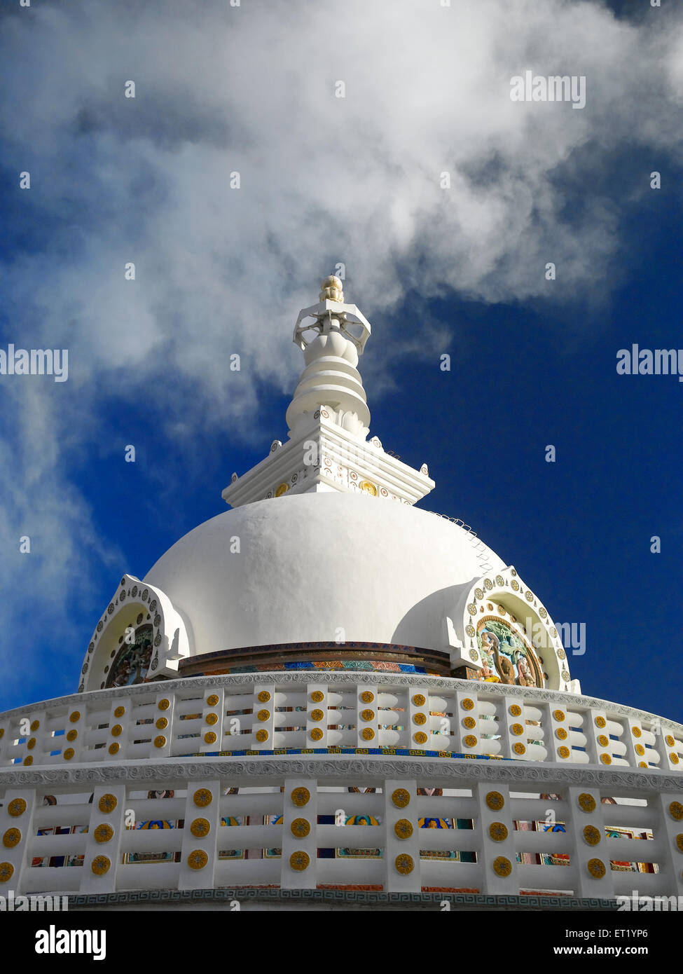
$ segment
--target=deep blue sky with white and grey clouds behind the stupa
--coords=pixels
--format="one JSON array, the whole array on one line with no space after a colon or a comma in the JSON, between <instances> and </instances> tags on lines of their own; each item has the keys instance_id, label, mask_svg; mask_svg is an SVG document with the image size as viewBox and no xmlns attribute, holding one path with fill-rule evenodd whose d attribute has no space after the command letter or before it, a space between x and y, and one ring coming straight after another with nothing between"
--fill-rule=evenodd
<instances>
[{"instance_id":1,"label":"deep blue sky with white and grey clouds behind the stupa","mask_svg":"<svg viewBox=\"0 0 683 974\"><path fill-rule=\"evenodd\" d=\"M293 321L342 261L420 506L586 624L585 693L683 720L683 384L616 371L683 347L683 15L366 6L3 6L0 349L68 348L69 380L0 376L0 709L73 692L124 572L285 439ZM512 103L526 69L586 107Z\"/></svg>"}]
</instances>

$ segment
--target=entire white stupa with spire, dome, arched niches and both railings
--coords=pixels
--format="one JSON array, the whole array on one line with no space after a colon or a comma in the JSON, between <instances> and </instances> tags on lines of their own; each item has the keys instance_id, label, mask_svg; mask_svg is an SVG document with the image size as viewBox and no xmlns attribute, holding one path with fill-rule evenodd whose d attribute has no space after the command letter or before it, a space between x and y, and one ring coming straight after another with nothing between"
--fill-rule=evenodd
<instances>
[{"instance_id":1,"label":"entire white stupa with spire, dome, arched niches and both railings","mask_svg":"<svg viewBox=\"0 0 683 974\"><path fill-rule=\"evenodd\" d=\"M123 576L79 693L0 715L0 893L683 893L683 728L582 696L514 566L414 506L435 484L370 437L369 335L325 279L287 441Z\"/></svg>"}]
</instances>

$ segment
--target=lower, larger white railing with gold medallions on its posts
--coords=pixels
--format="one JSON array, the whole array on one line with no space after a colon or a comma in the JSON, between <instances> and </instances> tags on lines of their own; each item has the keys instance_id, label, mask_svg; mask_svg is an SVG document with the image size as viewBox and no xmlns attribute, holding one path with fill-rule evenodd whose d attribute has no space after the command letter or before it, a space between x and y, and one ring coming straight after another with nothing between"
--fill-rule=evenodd
<instances>
[{"instance_id":1,"label":"lower, larger white railing with gold medallions on its posts","mask_svg":"<svg viewBox=\"0 0 683 974\"><path fill-rule=\"evenodd\" d=\"M0 892L683 895L683 795L667 775L643 772L634 792L622 768L588 781L578 768L549 768L539 785L530 767L383 756L90 771L93 784L86 769L13 783L39 772L0 771Z\"/></svg>"}]
</instances>

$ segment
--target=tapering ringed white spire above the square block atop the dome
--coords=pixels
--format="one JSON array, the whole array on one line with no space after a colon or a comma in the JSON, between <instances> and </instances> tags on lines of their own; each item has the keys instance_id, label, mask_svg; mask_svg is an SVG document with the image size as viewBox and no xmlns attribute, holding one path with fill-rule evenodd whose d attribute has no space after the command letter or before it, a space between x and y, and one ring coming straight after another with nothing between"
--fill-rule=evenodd
<instances>
[{"instance_id":1,"label":"tapering ringed white spire above the square block atop the dome","mask_svg":"<svg viewBox=\"0 0 683 974\"><path fill-rule=\"evenodd\" d=\"M293 341L306 367L286 412L290 437L324 406L333 422L365 439L370 411L357 365L369 337L367 319L344 302L342 282L334 275L325 278L319 303L302 309L294 325Z\"/></svg>"}]
</instances>

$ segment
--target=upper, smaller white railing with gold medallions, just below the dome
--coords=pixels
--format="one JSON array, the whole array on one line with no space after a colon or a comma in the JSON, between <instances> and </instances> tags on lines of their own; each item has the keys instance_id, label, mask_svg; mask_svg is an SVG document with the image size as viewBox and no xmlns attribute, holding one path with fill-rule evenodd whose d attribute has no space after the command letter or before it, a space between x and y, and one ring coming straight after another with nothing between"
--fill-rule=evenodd
<instances>
[{"instance_id":1,"label":"upper, smaller white railing with gold medallions, just below the dome","mask_svg":"<svg viewBox=\"0 0 683 974\"><path fill-rule=\"evenodd\" d=\"M329 749L681 770L683 727L572 693L397 674L248 674L0 715L0 768Z\"/></svg>"}]
</instances>

